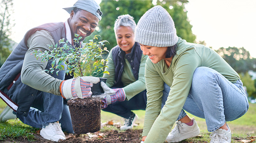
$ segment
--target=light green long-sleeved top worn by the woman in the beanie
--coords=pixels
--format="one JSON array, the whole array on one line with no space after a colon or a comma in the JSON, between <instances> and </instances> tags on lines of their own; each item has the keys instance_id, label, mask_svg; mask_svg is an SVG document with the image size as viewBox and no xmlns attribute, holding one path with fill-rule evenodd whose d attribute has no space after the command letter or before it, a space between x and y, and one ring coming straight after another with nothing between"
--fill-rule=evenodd
<instances>
[{"instance_id":1,"label":"light green long-sleeved top worn by the woman in the beanie","mask_svg":"<svg viewBox=\"0 0 256 143\"><path fill-rule=\"evenodd\" d=\"M154 64L147 59L145 66L147 107L142 136L144 143L162 143L188 96L192 77L197 67L210 67L235 83L240 77L215 51L201 44L187 43L181 38L177 42L177 53L168 68L162 59ZM164 82L170 92L161 110Z\"/></svg>"}]
</instances>

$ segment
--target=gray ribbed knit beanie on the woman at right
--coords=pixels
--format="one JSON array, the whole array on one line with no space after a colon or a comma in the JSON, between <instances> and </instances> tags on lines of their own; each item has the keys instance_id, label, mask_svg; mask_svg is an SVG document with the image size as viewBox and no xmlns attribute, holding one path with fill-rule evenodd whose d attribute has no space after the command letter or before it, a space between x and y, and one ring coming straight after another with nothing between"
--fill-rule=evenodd
<instances>
[{"instance_id":1,"label":"gray ribbed knit beanie on the woman at right","mask_svg":"<svg viewBox=\"0 0 256 143\"><path fill-rule=\"evenodd\" d=\"M135 41L154 47L175 45L178 36L170 14L162 6L154 6L149 9L137 24Z\"/></svg>"}]
</instances>

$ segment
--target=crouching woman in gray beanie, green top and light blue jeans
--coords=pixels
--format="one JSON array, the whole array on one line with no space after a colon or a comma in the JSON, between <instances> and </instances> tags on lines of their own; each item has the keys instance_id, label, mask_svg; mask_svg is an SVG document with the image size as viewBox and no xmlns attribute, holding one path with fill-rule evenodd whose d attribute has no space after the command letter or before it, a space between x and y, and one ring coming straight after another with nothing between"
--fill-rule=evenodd
<instances>
[{"instance_id":1,"label":"crouching woman in gray beanie, green top and light blue jeans","mask_svg":"<svg viewBox=\"0 0 256 143\"><path fill-rule=\"evenodd\" d=\"M177 37L173 19L161 6L141 17L135 41L149 57L145 66L147 107L141 142L179 142L197 136L200 130L186 110L205 119L212 132L211 143L230 143L231 130L226 121L243 116L249 108L237 72L209 47ZM168 96L162 91L167 91ZM165 105L161 108L162 103Z\"/></svg>"}]
</instances>

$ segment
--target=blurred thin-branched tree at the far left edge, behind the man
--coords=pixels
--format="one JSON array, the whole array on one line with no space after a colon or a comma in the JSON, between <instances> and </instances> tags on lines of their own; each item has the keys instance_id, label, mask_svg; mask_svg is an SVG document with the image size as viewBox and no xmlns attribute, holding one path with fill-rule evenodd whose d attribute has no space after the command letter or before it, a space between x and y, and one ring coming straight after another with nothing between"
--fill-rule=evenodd
<instances>
[{"instance_id":1,"label":"blurred thin-branched tree at the far left edge, behind the man","mask_svg":"<svg viewBox=\"0 0 256 143\"><path fill-rule=\"evenodd\" d=\"M11 28L15 25L11 23L10 16L13 13L13 2L11 0L2 0L0 2L0 67L11 54L9 50Z\"/></svg>"}]
</instances>

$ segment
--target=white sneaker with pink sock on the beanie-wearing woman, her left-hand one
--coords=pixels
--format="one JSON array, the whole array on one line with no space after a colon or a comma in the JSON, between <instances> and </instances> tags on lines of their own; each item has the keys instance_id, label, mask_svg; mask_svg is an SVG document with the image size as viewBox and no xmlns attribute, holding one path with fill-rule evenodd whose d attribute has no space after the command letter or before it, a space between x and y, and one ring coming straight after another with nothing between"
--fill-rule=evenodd
<instances>
[{"instance_id":1,"label":"white sneaker with pink sock on the beanie-wearing woman, her left-hand one","mask_svg":"<svg viewBox=\"0 0 256 143\"><path fill-rule=\"evenodd\" d=\"M182 123L181 121L176 121L176 125L171 131L171 133L168 134L167 138L165 139L165 142L179 142L182 140L185 140L187 138L196 137L200 134L199 127L193 118L193 125L189 126L185 123Z\"/></svg>"}]
</instances>

